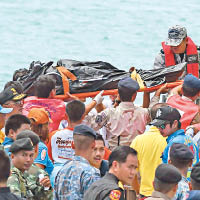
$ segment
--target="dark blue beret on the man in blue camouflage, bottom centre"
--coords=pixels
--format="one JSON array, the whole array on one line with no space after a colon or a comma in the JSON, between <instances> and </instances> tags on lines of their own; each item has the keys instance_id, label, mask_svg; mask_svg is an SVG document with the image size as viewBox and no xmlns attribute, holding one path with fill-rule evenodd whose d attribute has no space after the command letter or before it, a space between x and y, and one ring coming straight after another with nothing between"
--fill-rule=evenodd
<instances>
[{"instance_id":1,"label":"dark blue beret on the man in blue camouflage, bottom centre","mask_svg":"<svg viewBox=\"0 0 200 200\"><path fill-rule=\"evenodd\" d=\"M96 138L96 135L97 135L96 132L92 128L84 124L75 126L73 133L78 134L78 135L90 136L94 138Z\"/></svg>"}]
</instances>

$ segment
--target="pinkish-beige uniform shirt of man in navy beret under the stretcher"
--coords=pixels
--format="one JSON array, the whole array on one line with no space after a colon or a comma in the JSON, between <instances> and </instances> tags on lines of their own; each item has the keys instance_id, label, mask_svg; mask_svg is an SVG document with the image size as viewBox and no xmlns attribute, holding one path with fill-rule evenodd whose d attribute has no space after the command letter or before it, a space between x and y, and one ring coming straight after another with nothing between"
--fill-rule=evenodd
<instances>
[{"instance_id":1,"label":"pinkish-beige uniform shirt of man in navy beret under the stretcher","mask_svg":"<svg viewBox=\"0 0 200 200\"><path fill-rule=\"evenodd\" d=\"M107 108L96 116L93 128L98 130L106 127L107 140L110 148L118 145L130 145L139 134L144 133L150 121L149 110L134 106L132 102L122 102L117 108Z\"/></svg>"}]
</instances>

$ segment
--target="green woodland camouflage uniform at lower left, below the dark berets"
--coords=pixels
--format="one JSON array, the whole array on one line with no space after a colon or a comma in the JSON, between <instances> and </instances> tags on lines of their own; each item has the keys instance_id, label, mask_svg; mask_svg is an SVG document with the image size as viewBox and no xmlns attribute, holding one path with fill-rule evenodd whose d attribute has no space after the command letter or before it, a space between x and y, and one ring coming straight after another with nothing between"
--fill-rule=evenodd
<instances>
[{"instance_id":1,"label":"green woodland camouflage uniform at lower left, below the dark berets","mask_svg":"<svg viewBox=\"0 0 200 200\"><path fill-rule=\"evenodd\" d=\"M28 172L24 173L13 167L11 169L11 176L8 178L8 186L10 186L11 192L30 200L53 199L52 191L44 190L44 187L40 185L39 174L48 176L44 170L34 164Z\"/></svg>"}]
</instances>

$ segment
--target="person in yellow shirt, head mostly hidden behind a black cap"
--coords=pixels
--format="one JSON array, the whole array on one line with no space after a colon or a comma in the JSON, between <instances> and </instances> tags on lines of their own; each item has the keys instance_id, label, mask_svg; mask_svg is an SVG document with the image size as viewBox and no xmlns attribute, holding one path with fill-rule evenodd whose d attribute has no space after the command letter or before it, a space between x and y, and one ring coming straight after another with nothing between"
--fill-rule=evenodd
<instances>
[{"instance_id":1,"label":"person in yellow shirt, head mostly hidden behind a black cap","mask_svg":"<svg viewBox=\"0 0 200 200\"><path fill-rule=\"evenodd\" d=\"M155 119L158 108L166 105L165 103L157 103L150 109L152 120ZM150 126L149 130L146 130L142 135L136 136L131 143L130 147L138 153L141 177L139 193L143 198L151 196L153 192L152 182L155 177L155 170L162 163L161 155L166 146L166 139L155 126Z\"/></svg>"}]
</instances>

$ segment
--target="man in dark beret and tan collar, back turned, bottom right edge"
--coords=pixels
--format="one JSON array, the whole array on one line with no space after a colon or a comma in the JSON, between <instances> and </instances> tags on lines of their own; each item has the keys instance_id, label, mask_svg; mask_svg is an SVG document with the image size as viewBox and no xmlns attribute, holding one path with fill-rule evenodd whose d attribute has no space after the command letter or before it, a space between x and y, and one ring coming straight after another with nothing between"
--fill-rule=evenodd
<instances>
[{"instance_id":1,"label":"man in dark beret and tan collar, back turned, bottom right edge","mask_svg":"<svg viewBox=\"0 0 200 200\"><path fill-rule=\"evenodd\" d=\"M160 164L155 172L154 192L146 200L172 200L178 188L181 174L170 164Z\"/></svg>"}]
</instances>

